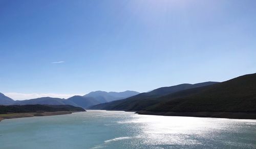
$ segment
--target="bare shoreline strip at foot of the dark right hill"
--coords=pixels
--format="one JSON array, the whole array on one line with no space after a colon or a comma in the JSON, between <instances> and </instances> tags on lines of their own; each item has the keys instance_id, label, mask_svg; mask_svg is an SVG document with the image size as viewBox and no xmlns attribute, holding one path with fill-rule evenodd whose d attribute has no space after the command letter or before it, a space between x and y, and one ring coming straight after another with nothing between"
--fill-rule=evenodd
<instances>
[{"instance_id":1,"label":"bare shoreline strip at foot of the dark right hill","mask_svg":"<svg viewBox=\"0 0 256 149\"><path fill-rule=\"evenodd\" d=\"M153 112L137 111L141 115L162 115L162 116L188 116L188 117L209 117L209 118L231 118L231 119L256 119L254 112Z\"/></svg>"}]
</instances>

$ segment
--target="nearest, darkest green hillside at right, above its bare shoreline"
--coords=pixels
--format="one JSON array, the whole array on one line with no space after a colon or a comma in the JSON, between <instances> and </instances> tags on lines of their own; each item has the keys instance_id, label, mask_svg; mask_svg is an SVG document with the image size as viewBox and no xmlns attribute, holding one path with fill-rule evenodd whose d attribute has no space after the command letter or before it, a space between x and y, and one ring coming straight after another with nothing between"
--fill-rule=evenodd
<instances>
[{"instance_id":1,"label":"nearest, darkest green hillside at right, above its bare shoreline","mask_svg":"<svg viewBox=\"0 0 256 149\"><path fill-rule=\"evenodd\" d=\"M256 73L159 98L151 112L256 112ZM255 117L256 118L256 117Z\"/></svg>"}]
</instances>

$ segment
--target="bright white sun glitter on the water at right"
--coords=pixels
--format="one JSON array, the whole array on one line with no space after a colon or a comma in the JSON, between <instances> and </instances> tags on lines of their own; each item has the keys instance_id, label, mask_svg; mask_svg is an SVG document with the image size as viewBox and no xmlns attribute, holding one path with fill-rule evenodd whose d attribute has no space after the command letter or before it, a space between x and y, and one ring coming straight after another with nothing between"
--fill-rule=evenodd
<instances>
[{"instance_id":1,"label":"bright white sun glitter on the water at right","mask_svg":"<svg viewBox=\"0 0 256 149\"><path fill-rule=\"evenodd\" d=\"M234 119L222 118L220 121L218 118L154 115L133 115L131 119L118 121L118 123L138 125L140 131L137 139L143 144L193 147L218 140L216 137L222 135L223 131L234 131L229 121L232 121L236 128L236 121L241 123L241 120Z\"/></svg>"}]
</instances>

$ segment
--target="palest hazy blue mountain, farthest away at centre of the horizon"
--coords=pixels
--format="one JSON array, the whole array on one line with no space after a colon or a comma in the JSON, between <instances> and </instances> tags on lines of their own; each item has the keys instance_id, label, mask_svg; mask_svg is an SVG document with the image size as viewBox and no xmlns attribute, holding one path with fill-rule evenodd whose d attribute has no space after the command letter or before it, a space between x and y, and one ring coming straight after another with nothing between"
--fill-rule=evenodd
<instances>
[{"instance_id":1,"label":"palest hazy blue mountain, farthest away at centre of the horizon","mask_svg":"<svg viewBox=\"0 0 256 149\"><path fill-rule=\"evenodd\" d=\"M121 100L123 98L131 97L137 94L139 94L139 92L129 90L124 92L93 91L84 95L84 97L93 97L100 103L106 103Z\"/></svg>"}]
</instances>

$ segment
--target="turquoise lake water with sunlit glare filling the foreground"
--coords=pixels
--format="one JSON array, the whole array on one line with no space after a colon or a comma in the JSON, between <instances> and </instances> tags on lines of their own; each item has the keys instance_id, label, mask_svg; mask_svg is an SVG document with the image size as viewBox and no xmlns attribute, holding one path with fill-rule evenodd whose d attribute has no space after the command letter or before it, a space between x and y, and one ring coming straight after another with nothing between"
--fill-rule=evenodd
<instances>
[{"instance_id":1,"label":"turquoise lake water with sunlit glare filling the foreground","mask_svg":"<svg viewBox=\"0 0 256 149\"><path fill-rule=\"evenodd\" d=\"M101 110L5 119L0 148L256 148L256 120Z\"/></svg>"}]
</instances>

